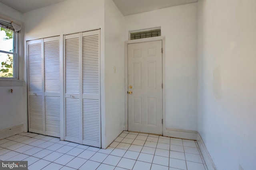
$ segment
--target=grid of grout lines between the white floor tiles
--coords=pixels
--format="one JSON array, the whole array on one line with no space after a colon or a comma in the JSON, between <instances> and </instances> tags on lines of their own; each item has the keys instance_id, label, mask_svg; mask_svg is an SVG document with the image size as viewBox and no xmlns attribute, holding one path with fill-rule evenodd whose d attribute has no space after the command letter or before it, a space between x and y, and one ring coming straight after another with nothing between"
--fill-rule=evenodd
<instances>
[{"instance_id":1,"label":"grid of grout lines between the white floor tiles","mask_svg":"<svg viewBox=\"0 0 256 170\"><path fill-rule=\"evenodd\" d=\"M122 132L122 133L124 133L124 132ZM121 134L122 134L122 133L121 133ZM30 134L33 134L33 133L28 133L28 134L25 133L25 134L21 135L20 137L25 137L26 135L30 135ZM135 138L132 139L132 140L133 140L132 143L124 143L124 144L130 145L130 146L129 146L127 149L117 148L118 145L119 145L120 143L122 143L122 140L123 140L124 138L126 138L128 134L136 135ZM20 134L19 134L19 135L20 135ZM37 136L37 135L34 135L33 137L29 137L29 139L32 139L32 138L34 138L34 137L36 137L36 136ZM156 137L156 136L150 136L150 135L147 135L147 136L146 136L146 135L141 135L141 136L146 136L146 139L145 139L145 140L140 140L140 139L136 139L138 136L140 136L140 133L136 133L136 134L130 133L130 132L126 133L126 135L125 135L124 137L122 137L123 139L122 139L120 142L116 142L116 141L115 141L115 142L118 143L118 144L117 144L115 147L110 147L110 148L113 148L113 150L111 150L111 152L108 153L108 154L100 152L101 149L98 149L97 151L95 151L95 150L90 150L90 149L89 149L89 148L90 148L89 146L88 146L86 149L83 149L83 148L79 148L79 147L78 147L79 144L76 145L76 146L70 146L70 145L68 145L69 143L72 143L72 142L68 142L68 143L63 144L63 143L58 143L58 142L60 142L60 141L57 141L57 142L54 141L54 142L52 142L52 143L53 143L52 145L54 145L54 144L63 145L62 147L58 148L57 150L59 150L59 149L65 147L65 146L72 147L72 149L68 150L68 152L70 152L71 150L73 150L73 149L75 149L75 148L77 148L77 149L82 149L82 150L83 150L82 152L84 152L85 150L90 150L90 151L95 152L92 156L94 156L94 155L98 152L98 153L101 153L101 154L106 154L106 155L107 155L106 158L111 155L111 153L114 151L114 149L125 150L125 152L124 152L124 154L123 154L122 156L118 156L118 157L120 157L120 160L118 161L118 163L116 164L116 166L114 166L114 168L116 168L116 167L119 167L118 164L120 163L120 161L122 160L122 158L124 158L124 155L128 152L128 150L132 147L132 145L136 145L136 144L134 144L134 141L135 141L135 140L144 141L144 144L143 144L143 145L138 145L139 143L137 143L137 145L136 145L136 146L142 147L139 152L138 152L138 151L134 151L134 150L130 150L130 151L133 151L133 152L138 152L138 157L135 159L135 163L134 163L134 165L133 165L133 168L134 168L136 162L137 162L137 161L141 161L141 160L138 160L138 158L139 158L140 154L142 153L142 149L143 149L144 147L146 147L145 144L146 144L146 142L147 142L148 137ZM20 138L20 137L18 137L18 138ZM44 136L44 137L47 137L47 136ZM41 137L40 139L34 138L34 139L36 139L36 140L35 140L35 141L32 141L32 142L30 142L30 143L36 142L36 141L38 141L38 140L42 140L42 141L44 141L44 142L39 144L39 145L42 145L42 144L44 144L44 143L46 143L46 142L50 142L50 140L52 140L52 139L55 139L55 137L52 137L52 139L50 139L50 140L43 140L42 138L44 138L44 137ZM18 139L18 138L16 138L16 139ZM58 138L56 138L56 139L58 139ZM130 138L128 138L128 139L130 139ZM163 138L163 139L165 139L165 138ZM12 140L6 139L6 140L8 140L8 141L6 141L5 143L10 142L10 141L13 141L13 140L15 140L15 139L12 139ZM26 139L26 140L28 140L28 139ZM26 140L24 140L24 141L26 141ZM161 144L167 144L167 143L164 143L164 141L160 142L159 140L160 140L160 136L158 135L158 139L157 139L157 142L156 142L156 147L149 147L149 148L154 148L154 149L155 149L155 150L154 150L154 154L151 154L151 153L144 153L144 154L154 155L151 163L150 163L150 162L146 162L146 163L150 163L150 164L151 164L150 168L152 168L153 160L154 160L154 158L155 158L155 156L156 156L156 149L161 149L161 147L158 148L158 144L160 144L160 143L161 143ZM177 141L179 141L179 140L177 140ZM182 147L183 147L183 151L184 151L183 153L184 153L184 157L185 157L186 168L188 168L188 167L187 167L186 155L185 155L185 149L184 149L184 141L183 141L183 140L181 140L181 141L182 141ZM16 141L14 141L14 142L16 142ZM47 148L50 147L50 146L52 146L52 145L50 145L50 146L48 146L48 147L46 147L46 148L41 148L41 147L38 147L39 145L34 146L34 145L29 145L30 143L21 143L21 142L22 142L22 141L16 142L16 143L13 144L13 145L16 145L16 144L24 144L24 146L31 146L31 147L32 147L31 149L33 149L34 147L37 147L37 148L42 149L42 150L40 150L40 151L38 151L38 152L41 152L41 151L43 151L43 150L49 150L49 149L47 149ZM154 141L148 141L148 142L154 142ZM171 158L171 157L170 157L170 154L171 154L171 148L170 148L170 146L172 145L172 144L171 144L171 138L169 138L169 142L170 142L170 143L169 143L169 150L168 150L168 153L169 153L169 154L168 154L168 158L169 158L169 162L168 162L168 165L169 165L169 166L168 166L168 167L171 166L171 165L170 165L170 158ZM194 141L194 143L196 143L196 142ZM2 143L2 144L4 144L4 143ZM1 144L1 145L2 145L2 144ZM11 147L11 146L12 146L12 145L10 145L10 146L8 146L8 147ZM22 147L24 147L24 146L22 146ZM175 145L175 146L180 146L180 145ZM202 156L201 156L201 154L200 154L200 150L198 149L197 146L198 146L198 145L196 145L196 148L197 148L197 150L199 151L199 156L200 156L200 158L201 158L201 160L202 160ZM2 148L2 147L1 147L1 148ZM7 148L7 147L6 147L6 148ZM6 149L6 148L2 148L2 149ZM16 148L16 149L19 149L19 148L21 148L21 147L18 147L18 148ZM191 148L195 148L195 147L191 147ZM2 149L0 149L0 150L2 150ZM16 150L16 149L15 149L15 150ZM10 149L6 149L6 150L10 150ZM28 149L28 150L30 150L30 149ZM166 149L163 149L163 150L166 150ZM14 150L10 150L10 151L14 151ZM10 152L10 151L9 151L9 152ZM26 151L27 151L27 150L25 150L24 152L26 152ZM71 155L71 154L67 154L68 152L62 153L62 152L59 152L59 151L56 151L56 150L49 150L49 151L51 151L49 154L52 154L53 152L58 152L58 153L62 154L62 156L63 156L63 155L74 156L74 155ZM17 152L17 151L14 151L14 152ZM18 153L18 155L19 155L19 154L24 154L24 155L28 156L27 158L29 158L29 157L37 158L38 160L37 160L36 162L38 162L39 160L44 160L43 158L49 155L49 154L47 154L47 155L45 155L45 156L42 157L42 158L38 158L38 157L33 156L34 154L37 154L38 152L33 153L32 155L24 154L24 153L22 153L22 152L17 152L17 153ZM82 152L80 152L78 155L80 155ZM176 152L179 152L179 151L176 151ZM8 153L8 152L6 152L6 153ZM192 154L194 154L194 153L192 153ZM2 155L3 155L3 154L2 154ZM74 158L72 158L69 162L71 162L71 161L74 160L75 158L80 158L80 157L78 157L78 155L74 156ZM198 154L195 154L195 155L198 155ZM17 155L16 155L16 156L17 156ZM90 158L92 158L92 156L90 156ZM116 156L116 155L112 155L112 156ZM159 156L160 156L160 155L159 155ZM162 155L161 155L161 156L162 156ZM14 157L14 156L12 156L11 158L13 158L13 157ZM60 156L60 157L61 157L61 156ZM59 158L60 158L60 157L59 157ZM164 157L166 157L166 156L164 156ZM9 158L9 159L11 159L11 158ZM27 158L24 158L24 159L27 159ZM90 158L85 159L86 161L84 162L84 164L85 164L86 162L88 162L88 160L90 160ZM104 160L106 160L106 158L104 158ZM24 160L24 159L23 159L23 160ZM57 158L57 159L58 159L58 158ZM57 160L57 159L56 159L56 160ZM134 160L134 159L132 159L132 158L127 158L127 159ZM98 162L98 163L100 163L100 164L97 166L97 168L98 168L99 166L101 166L101 164L105 164L105 163L103 163L104 160L102 160L101 162ZM48 160L45 160L45 161L48 161ZM56 162L54 162L54 161L55 161L55 160L53 160L53 161L48 161L48 162L50 162L49 164L51 164L51 163L58 164L58 163L56 163ZM91 161L92 161L92 162L97 162L97 161L94 161L94 160L91 160ZM35 164L36 162L34 162L33 164ZM67 162L65 165L62 165L62 164L58 164L58 165L62 166L62 168L63 168L63 167L70 167L70 166L66 166L69 162ZM141 161L141 162L144 162L144 161ZM189 162L193 162L193 161L189 161ZM202 160L202 162L203 162L203 160ZM198 162L196 162L196 163L198 163ZM200 162L199 162L199 163L200 163ZM47 164L46 166L48 166L49 164ZM82 164L81 166L83 166L84 164ZM32 165L32 164L31 164L31 165ZM31 165L30 165L30 166L31 166ZM110 164L107 164L107 163L106 163L106 165L110 165ZM164 166L163 164L158 164L158 165ZM45 168L46 166L44 166L44 168ZM81 167L81 166L80 166L80 167ZM113 165L110 165L110 166L113 166ZM204 166L204 162L203 162L203 166ZM80 168L80 167L79 167L79 168ZM72 168L72 167L70 167L70 168Z\"/></svg>"}]
</instances>

